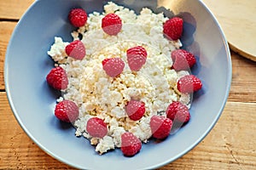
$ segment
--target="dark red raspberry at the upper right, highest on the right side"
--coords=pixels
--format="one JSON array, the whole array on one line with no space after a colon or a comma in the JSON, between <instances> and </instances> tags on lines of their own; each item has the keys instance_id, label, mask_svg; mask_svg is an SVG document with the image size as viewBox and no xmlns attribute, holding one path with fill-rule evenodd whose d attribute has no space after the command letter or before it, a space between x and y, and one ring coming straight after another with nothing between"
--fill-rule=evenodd
<instances>
[{"instance_id":1,"label":"dark red raspberry at the upper right, highest on the right side","mask_svg":"<svg viewBox=\"0 0 256 170\"><path fill-rule=\"evenodd\" d=\"M183 19L173 17L172 19L166 20L163 27L163 32L168 39L177 40L183 33Z\"/></svg>"}]
</instances>

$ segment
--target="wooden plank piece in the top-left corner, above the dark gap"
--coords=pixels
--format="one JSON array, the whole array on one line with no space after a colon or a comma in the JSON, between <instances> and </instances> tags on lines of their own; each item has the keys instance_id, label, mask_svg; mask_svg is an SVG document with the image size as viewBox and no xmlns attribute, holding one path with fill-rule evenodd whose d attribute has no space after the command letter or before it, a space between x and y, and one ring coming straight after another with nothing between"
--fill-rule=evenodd
<instances>
[{"instance_id":1,"label":"wooden plank piece in the top-left corner, above the dark gap","mask_svg":"<svg viewBox=\"0 0 256 170\"><path fill-rule=\"evenodd\" d=\"M34 0L0 0L0 19L19 20Z\"/></svg>"}]
</instances>

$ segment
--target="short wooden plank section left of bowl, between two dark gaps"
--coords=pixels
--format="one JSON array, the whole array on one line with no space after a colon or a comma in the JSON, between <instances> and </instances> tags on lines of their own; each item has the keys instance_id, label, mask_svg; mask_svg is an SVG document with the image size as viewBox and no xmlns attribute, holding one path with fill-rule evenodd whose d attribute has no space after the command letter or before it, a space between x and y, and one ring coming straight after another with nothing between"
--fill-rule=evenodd
<instances>
[{"instance_id":1,"label":"short wooden plank section left of bowl, between two dark gaps","mask_svg":"<svg viewBox=\"0 0 256 170\"><path fill-rule=\"evenodd\" d=\"M6 48L9 43L11 34L16 26L16 22L0 22L0 90L4 89L3 81L3 65L6 53Z\"/></svg>"}]
</instances>

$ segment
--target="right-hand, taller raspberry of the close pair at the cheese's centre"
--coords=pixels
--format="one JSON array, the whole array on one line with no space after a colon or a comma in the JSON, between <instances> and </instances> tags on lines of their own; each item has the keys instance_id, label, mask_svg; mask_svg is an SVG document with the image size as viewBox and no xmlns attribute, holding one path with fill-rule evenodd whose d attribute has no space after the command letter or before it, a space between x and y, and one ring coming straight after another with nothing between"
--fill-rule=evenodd
<instances>
[{"instance_id":1,"label":"right-hand, taller raspberry of the close pair at the cheese's centre","mask_svg":"<svg viewBox=\"0 0 256 170\"><path fill-rule=\"evenodd\" d=\"M126 51L128 65L131 71L139 71L147 60L147 50L142 46L129 48Z\"/></svg>"}]
</instances>

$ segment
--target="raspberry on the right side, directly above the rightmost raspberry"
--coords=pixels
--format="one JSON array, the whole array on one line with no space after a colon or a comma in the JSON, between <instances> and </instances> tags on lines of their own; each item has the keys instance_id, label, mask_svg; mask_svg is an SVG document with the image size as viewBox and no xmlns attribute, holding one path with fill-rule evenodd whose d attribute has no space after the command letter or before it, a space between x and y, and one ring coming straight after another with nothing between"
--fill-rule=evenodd
<instances>
[{"instance_id":1,"label":"raspberry on the right side, directly above the rightmost raspberry","mask_svg":"<svg viewBox=\"0 0 256 170\"><path fill-rule=\"evenodd\" d=\"M184 49L172 51L172 68L176 71L184 71L195 65L196 59L194 54L189 53Z\"/></svg>"}]
</instances>

